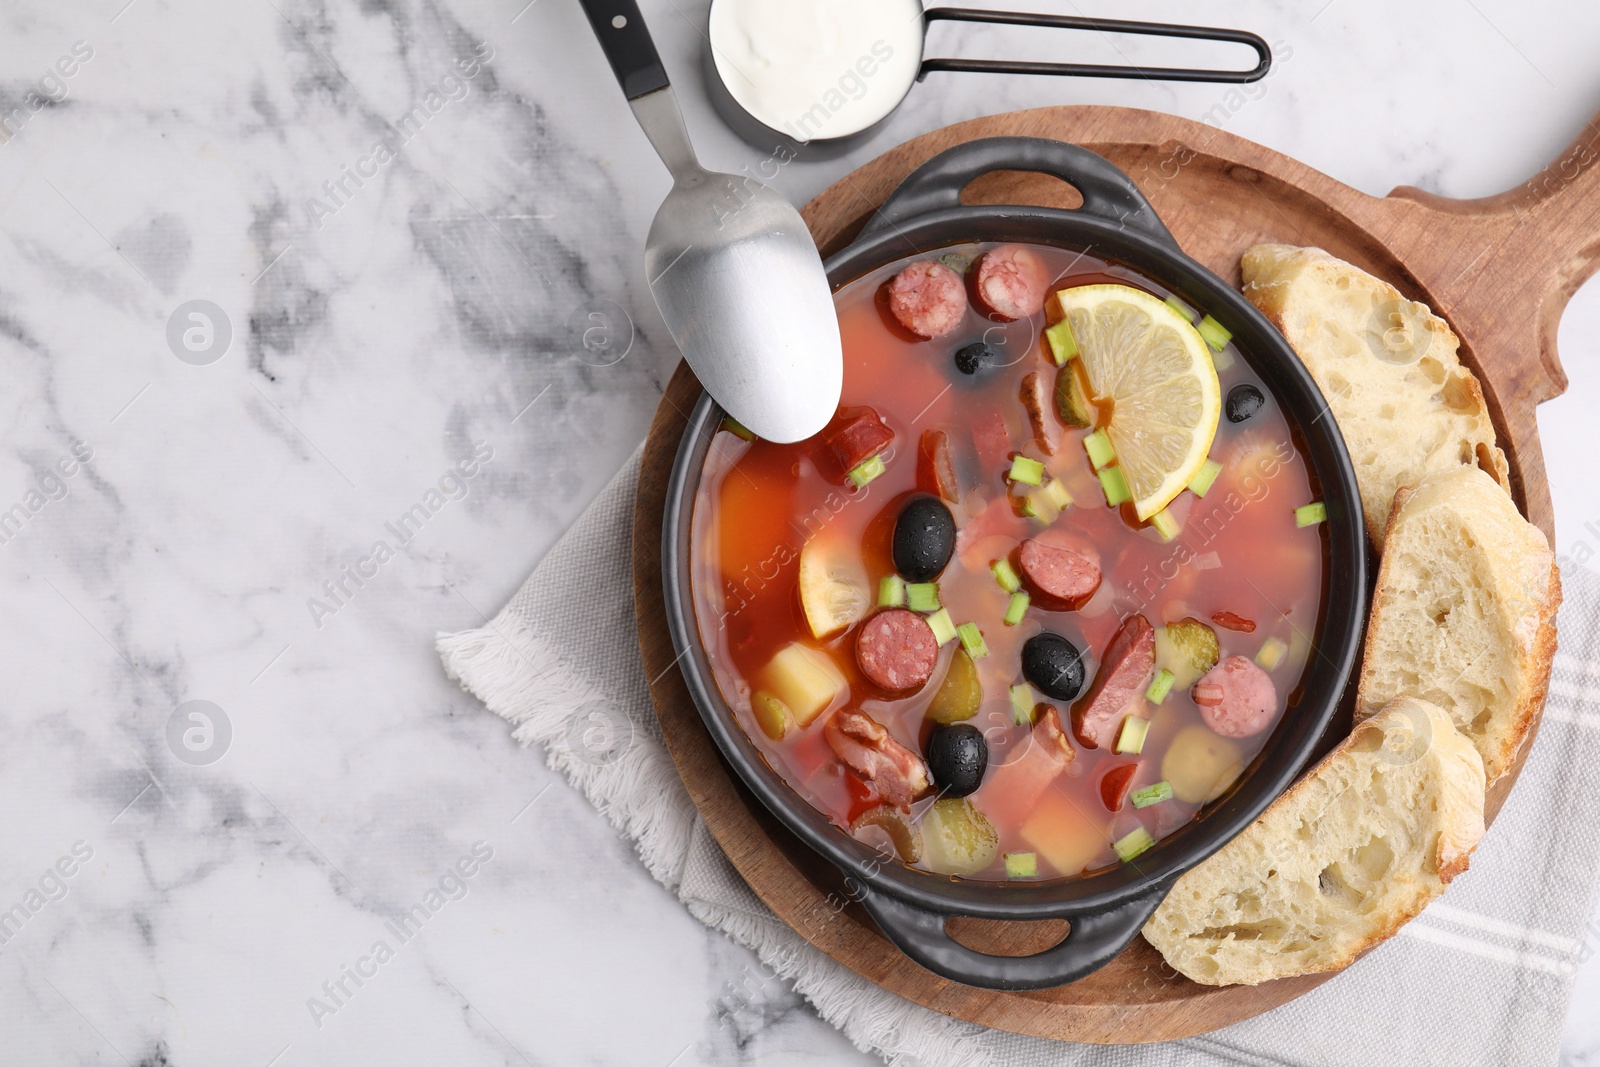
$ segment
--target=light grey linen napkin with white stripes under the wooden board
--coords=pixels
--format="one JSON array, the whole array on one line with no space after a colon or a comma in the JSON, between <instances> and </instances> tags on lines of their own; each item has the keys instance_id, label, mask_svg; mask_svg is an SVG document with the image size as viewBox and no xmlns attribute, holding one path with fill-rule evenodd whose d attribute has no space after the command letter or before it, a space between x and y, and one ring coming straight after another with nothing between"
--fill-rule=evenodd
<instances>
[{"instance_id":1,"label":"light grey linen napkin with white stripes under the wooden board","mask_svg":"<svg viewBox=\"0 0 1600 1067\"><path fill-rule=\"evenodd\" d=\"M1554 1064L1587 958L1600 857L1600 579L1571 566L1544 725L1472 869L1331 982L1205 1037L1093 1046L928 1011L779 921L728 864L661 741L635 653L630 530L638 454L488 625L442 633L445 670L546 749L662 885L750 947L858 1048L896 1067L1085 1064ZM618 670L618 664L626 664Z\"/></svg>"}]
</instances>

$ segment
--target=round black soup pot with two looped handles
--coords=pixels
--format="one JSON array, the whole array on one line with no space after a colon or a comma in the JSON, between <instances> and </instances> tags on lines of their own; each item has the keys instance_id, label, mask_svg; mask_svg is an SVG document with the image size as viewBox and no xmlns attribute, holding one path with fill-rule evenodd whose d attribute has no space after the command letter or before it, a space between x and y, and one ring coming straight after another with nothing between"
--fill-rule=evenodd
<instances>
[{"instance_id":1,"label":"round black soup pot with two looped handles","mask_svg":"<svg viewBox=\"0 0 1600 1067\"><path fill-rule=\"evenodd\" d=\"M1037 171L1074 186L1077 210L965 206L960 194L997 170ZM1029 242L1091 251L1171 290L1232 331L1240 355L1277 397L1328 506L1322 611L1298 704L1261 753L1200 816L1133 862L1085 878L998 883L947 878L886 861L806 803L768 766L717 688L690 581L690 528L701 469L723 413L702 395L667 488L662 573L667 624L688 689L723 758L766 808L845 875L883 936L922 966L968 985L1046 989L1106 965L1139 933L1173 881L1250 825L1304 769L1350 680L1366 619L1366 534L1350 456L1310 374L1283 336L1232 286L1179 250L1133 181L1085 149L1034 138L954 147L914 171L861 235L829 258L835 291L906 256L968 242ZM1030 957L989 955L946 933L954 915L1069 920L1064 941Z\"/></svg>"}]
</instances>

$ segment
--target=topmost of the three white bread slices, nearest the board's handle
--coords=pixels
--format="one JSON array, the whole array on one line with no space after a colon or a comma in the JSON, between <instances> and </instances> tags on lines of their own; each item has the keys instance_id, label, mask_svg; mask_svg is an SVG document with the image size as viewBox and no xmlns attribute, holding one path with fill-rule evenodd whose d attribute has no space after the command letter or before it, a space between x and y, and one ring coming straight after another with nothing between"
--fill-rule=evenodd
<instances>
[{"instance_id":1,"label":"topmost of the three white bread slices, nearest the board's handle","mask_svg":"<svg viewBox=\"0 0 1600 1067\"><path fill-rule=\"evenodd\" d=\"M1242 267L1245 296L1288 338L1344 432L1379 550L1402 485L1474 464L1510 485L1478 379L1426 304L1320 248L1256 245Z\"/></svg>"}]
</instances>

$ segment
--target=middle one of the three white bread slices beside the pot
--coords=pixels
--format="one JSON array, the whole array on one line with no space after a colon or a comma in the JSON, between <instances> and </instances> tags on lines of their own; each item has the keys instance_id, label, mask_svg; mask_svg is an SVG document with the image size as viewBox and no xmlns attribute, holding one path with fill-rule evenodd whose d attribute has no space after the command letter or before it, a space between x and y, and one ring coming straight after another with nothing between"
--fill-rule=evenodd
<instances>
[{"instance_id":1,"label":"middle one of the three white bread slices beside the pot","mask_svg":"<svg viewBox=\"0 0 1600 1067\"><path fill-rule=\"evenodd\" d=\"M1432 701L1493 782L1517 760L1550 681L1555 555L1477 467L1400 490L1384 545L1355 717L1397 696Z\"/></svg>"}]
</instances>

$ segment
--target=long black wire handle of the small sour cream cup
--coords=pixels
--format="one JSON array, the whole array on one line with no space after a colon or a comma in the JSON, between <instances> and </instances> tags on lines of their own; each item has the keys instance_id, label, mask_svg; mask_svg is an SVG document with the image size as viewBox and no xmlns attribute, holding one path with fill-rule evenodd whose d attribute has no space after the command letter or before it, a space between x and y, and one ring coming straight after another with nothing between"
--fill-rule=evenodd
<instances>
[{"instance_id":1,"label":"long black wire handle of the small sour cream cup","mask_svg":"<svg viewBox=\"0 0 1600 1067\"><path fill-rule=\"evenodd\" d=\"M1272 50L1248 30L1216 26L1178 26L1173 22L1133 22L1126 19L1090 19L1075 14L1029 14L1024 11L982 11L978 8L928 8L923 19L949 22L994 22L1002 26L1045 26L1099 34L1138 34L1142 37L1182 37L1187 40L1219 40L1246 45L1256 53L1256 66L1248 70L1208 70L1205 67L1134 67L1096 62L1019 62L1014 59L923 59L917 70L920 82L931 70L976 70L982 74L1054 74L1078 78L1162 78L1166 82L1245 83L1267 77Z\"/></svg>"}]
</instances>

